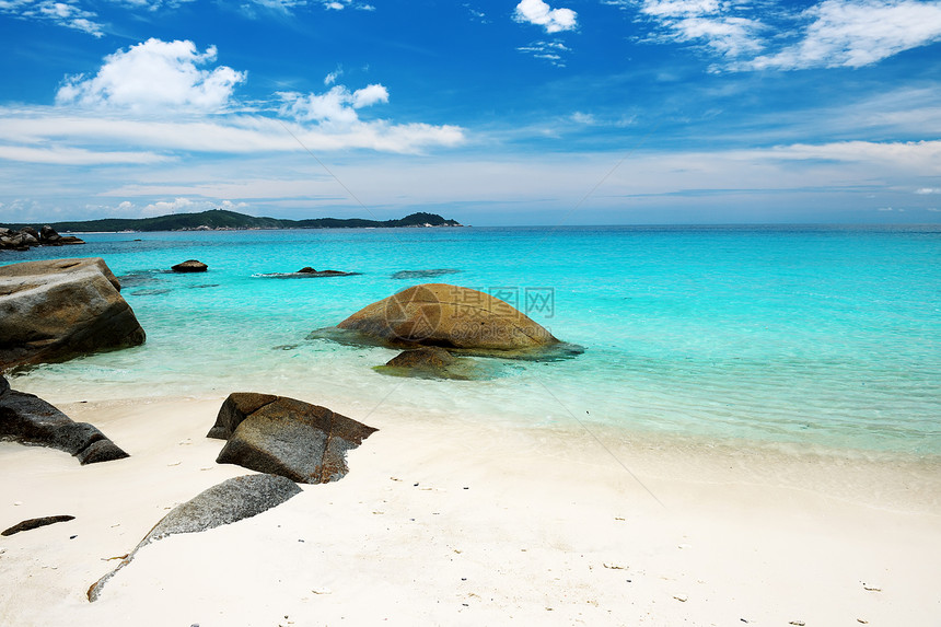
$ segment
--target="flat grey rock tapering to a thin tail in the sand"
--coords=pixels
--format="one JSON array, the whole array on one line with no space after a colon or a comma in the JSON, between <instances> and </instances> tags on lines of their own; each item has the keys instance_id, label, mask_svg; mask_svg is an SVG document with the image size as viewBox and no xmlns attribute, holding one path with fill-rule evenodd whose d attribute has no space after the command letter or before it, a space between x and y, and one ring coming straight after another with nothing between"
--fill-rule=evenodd
<instances>
[{"instance_id":1,"label":"flat grey rock tapering to a thin tail in the sand","mask_svg":"<svg viewBox=\"0 0 941 627\"><path fill-rule=\"evenodd\" d=\"M276 475L245 475L212 486L175 507L148 533L117 568L89 588L89 601L97 601L105 583L144 546L178 533L198 533L252 518L299 495L301 488Z\"/></svg>"}]
</instances>

